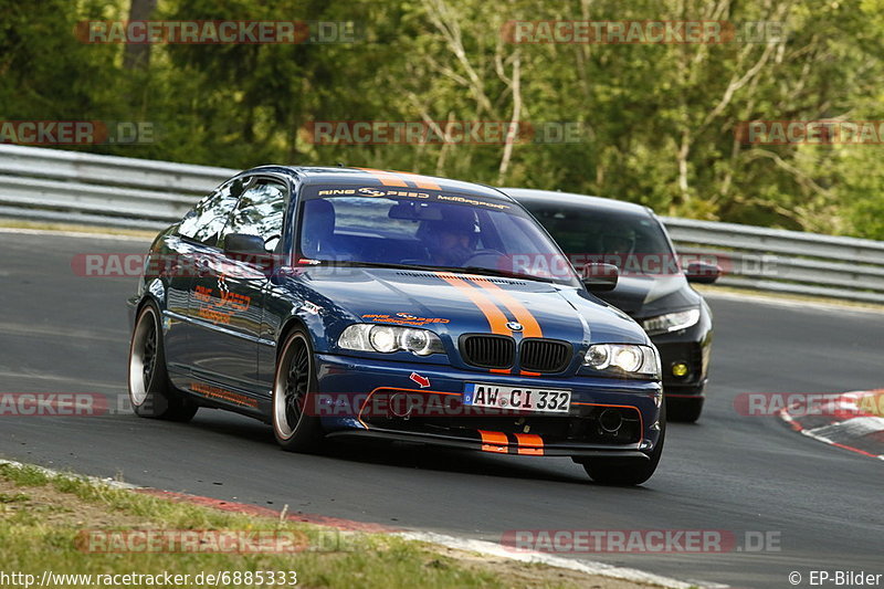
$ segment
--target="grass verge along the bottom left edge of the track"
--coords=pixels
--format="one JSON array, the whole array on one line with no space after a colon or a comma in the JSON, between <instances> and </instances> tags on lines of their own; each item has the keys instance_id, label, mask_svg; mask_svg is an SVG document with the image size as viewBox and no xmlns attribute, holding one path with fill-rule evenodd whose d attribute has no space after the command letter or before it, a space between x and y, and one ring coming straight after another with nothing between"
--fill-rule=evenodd
<instances>
[{"instance_id":1,"label":"grass verge along the bottom left edge of the track","mask_svg":"<svg viewBox=\"0 0 884 589\"><path fill-rule=\"evenodd\" d=\"M140 541L84 541L84 537L96 536L105 540L108 537L143 538L149 533L173 537L181 530L198 534L201 541L176 553L146 550L146 544ZM213 544L206 541L206 538L217 538L219 535L294 537L299 539L296 543L299 549L246 554L212 551L223 543ZM167 582L159 578L134 578L126 586L206 587L211 585L207 582L206 574L228 571L228 577L220 578L214 585L227 588L281 588L293 586L291 575L285 576L283 583L271 583L265 572L264 582L260 583L255 574L296 571L299 587L648 587L545 565L490 558L383 534L340 532L286 520L284 517L254 517L222 512L82 477L54 476L36 467L10 464L0 465L0 577L12 572L32 575L32 586L38 586L44 571L52 571L56 577L49 586L65 588L122 587L125 579L113 576L154 576L166 571L189 575L189 578L183 583L178 580ZM271 543L265 546L280 545ZM102 551L95 551L96 548ZM137 549L133 551L133 548ZM251 581L246 580L246 571L253 574ZM200 572L203 572L202 579L197 578ZM236 572L241 575L239 582ZM92 577L59 579L59 575ZM108 583L110 579L116 583ZM281 579L277 577L273 580ZM19 582L0 578L0 585L24 587L21 582L24 580L25 577L19 578Z\"/></svg>"}]
</instances>

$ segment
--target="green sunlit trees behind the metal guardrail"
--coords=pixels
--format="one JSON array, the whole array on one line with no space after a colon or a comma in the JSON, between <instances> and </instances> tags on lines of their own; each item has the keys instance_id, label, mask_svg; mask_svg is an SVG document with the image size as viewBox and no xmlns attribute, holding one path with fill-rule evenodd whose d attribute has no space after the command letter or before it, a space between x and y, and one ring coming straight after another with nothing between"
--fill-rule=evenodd
<instances>
[{"instance_id":1,"label":"green sunlit trees behind the metal guardrail","mask_svg":"<svg viewBox=\"0 0 884 589\"><path fill-rule=\"evenodd\" d=\"M2 118L156 125L150 145L90 147L116 155L236 168L340 161L884 239L884 146L736 135L755 119L884 119L884 0L159 0L155 19L354 21L364 35L157 44L147 62L73 34L82 20L126 19L131 1L0 0ZM649 19L777 22L786 34L720 44L517 44L504 34L518 20ZM581 134L316 145L305 125L317 120L568 122Z\"/></svg>"}]
</instances>

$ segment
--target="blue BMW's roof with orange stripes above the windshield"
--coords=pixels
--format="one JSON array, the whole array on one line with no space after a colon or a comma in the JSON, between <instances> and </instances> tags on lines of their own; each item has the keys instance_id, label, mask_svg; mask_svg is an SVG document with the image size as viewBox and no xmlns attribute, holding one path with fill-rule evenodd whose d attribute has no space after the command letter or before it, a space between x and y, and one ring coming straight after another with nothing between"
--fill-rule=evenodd
<instances>
[{"instance_id":1,"label":"blue BMW's roof with orange stripes above the windshield","mask_svg":"<svg viewBox=\"0 0 884 589\"><path fill-rule=\"evenodd\" d=\"M473 182L451 180L435 176L421 176L406 171L376 170L372 168L333 168L311 166L262 166L249 172L269 171L298 176L305 185L369 186L402 189L443 190L459 194L495 198L506 201L513 199L501 190Z\"/></svg>"}]
</instances>

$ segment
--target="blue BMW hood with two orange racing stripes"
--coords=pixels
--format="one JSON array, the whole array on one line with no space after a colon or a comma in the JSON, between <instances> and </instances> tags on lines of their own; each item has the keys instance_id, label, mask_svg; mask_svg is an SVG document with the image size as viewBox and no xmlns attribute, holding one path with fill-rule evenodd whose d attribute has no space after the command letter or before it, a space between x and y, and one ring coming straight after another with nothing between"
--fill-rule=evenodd
<instances>
[{"instance_id":1,"label":"blue BMW hood with two orange racing stripes","mask_svg":"<svg viewBox=\"0 0 884 589\"><path fill-rule=\"evenodd\" d=\"M492 325L502 333L502 325L518 322L523 335L573 344L648 341L628 315L575 287L392 269L322 267L302 277L356 322L424 327L452 338L495 333Z\"/></svg>"}]
</instances>

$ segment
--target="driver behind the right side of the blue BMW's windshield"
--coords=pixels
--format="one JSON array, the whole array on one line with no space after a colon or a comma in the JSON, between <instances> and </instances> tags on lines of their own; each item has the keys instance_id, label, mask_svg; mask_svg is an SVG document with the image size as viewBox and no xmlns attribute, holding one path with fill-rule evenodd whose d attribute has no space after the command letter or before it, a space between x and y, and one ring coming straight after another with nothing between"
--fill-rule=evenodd
<instances>
[{"instance_id":1,"label":"driver behind the right side of the blue BMW's windshield","mask_svg":"<svg viewBox=\"0 0 884 589\"><path fill-rule=\"evenodd\" d=\"M462 266L476 251L478 223L470 207L446 206L441 220L421 221L417 236L440 266Z\"/></svg>"}]
</instances>

